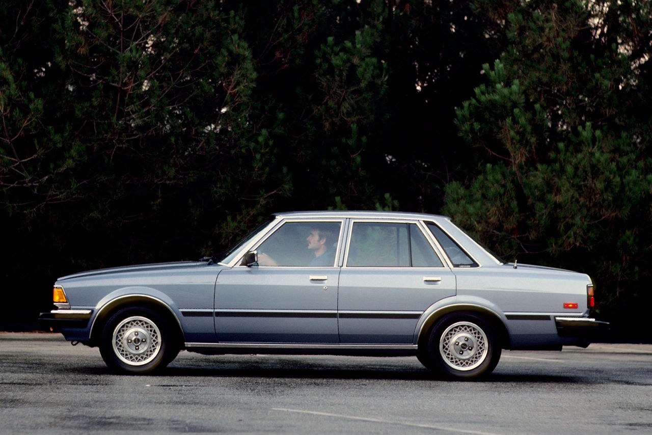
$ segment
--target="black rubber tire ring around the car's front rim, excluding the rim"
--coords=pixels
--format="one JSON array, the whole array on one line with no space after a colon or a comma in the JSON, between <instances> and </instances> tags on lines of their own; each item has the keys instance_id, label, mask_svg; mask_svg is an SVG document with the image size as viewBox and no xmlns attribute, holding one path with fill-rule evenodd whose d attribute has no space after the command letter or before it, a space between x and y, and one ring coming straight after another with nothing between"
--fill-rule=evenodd
<instances>
[{"instance_id":1,"label":"black rubber tire ring around the car's front rim, excluding the rim","mask_svg":"<svg viewBox=\"0 0 652 435\"><path fill-rule=\"evenodd\" d=\"M140 316L149 320L149 322L156 325L160 334L160 337L158 337L158 353L156 353L156 356L151 361L148 361L143 365L125 363L125 361L118 357L113 349L113 333L115 328L119 323L123 322L123 320L134 316ZM151 373L164 368L168 363L170 363L171 359L169 355L171 353L171 337L170 328L166 325L163 316L158 314L155 310L136 307L122 308L112 314L109 320L104 323L104 327L102 327L99 340L100 354L102 355L102 359L104 359L106 365L111 368L111 370L126 374Z\"/></svg>"}]
</instances>

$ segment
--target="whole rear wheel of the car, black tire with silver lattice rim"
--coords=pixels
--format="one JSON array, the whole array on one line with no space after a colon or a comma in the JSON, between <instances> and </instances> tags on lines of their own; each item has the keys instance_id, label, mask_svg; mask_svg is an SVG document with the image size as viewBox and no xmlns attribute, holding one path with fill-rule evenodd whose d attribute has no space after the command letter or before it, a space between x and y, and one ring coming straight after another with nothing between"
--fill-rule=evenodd
<instances>
[{"instance_id":1,"label":"whole rear wheel of the car, black tire with silver lattice rim","mask_svg":"<svg viewBox=\"0 0 652 435\"><path fill-rule=\"evenodd\" d=\"M493 325L473 313L451 313L435 323L422 358L445 378L471 380L490 374L501 346Z\"/></svg>"}]
</instances>

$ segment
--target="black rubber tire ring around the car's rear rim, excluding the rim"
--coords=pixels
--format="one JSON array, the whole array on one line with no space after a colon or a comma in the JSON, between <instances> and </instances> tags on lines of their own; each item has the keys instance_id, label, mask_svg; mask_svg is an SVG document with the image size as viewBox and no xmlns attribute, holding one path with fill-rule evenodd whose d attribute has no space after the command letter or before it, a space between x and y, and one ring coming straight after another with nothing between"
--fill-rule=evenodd
<instances>
[{"instance_id":1,"label":"black rubber tire ring around the car's rear rim, excluding the rim","mask_svg":"<svg viewBox=\"0 0 652 435\"><path fill-rule=\"evenodd\" d=\"M484 360L478 367L470 370L458 370L451 367L446 363L446 361L444 361L443 356L439 352L439 343L443 333L449 329L451 325L458 322L473 323L479 327L486 336L486 357L484 357ZM428 338L427 354L429 362L427 367L435 370L444 378L473 380L487 376L494 370L494 368L496 368L501 355L501 346L496 329L490 322L484 320L481 316L473 313L451 313L439 319L432 328L430 337Z\"/></svg>"}]
</instances>

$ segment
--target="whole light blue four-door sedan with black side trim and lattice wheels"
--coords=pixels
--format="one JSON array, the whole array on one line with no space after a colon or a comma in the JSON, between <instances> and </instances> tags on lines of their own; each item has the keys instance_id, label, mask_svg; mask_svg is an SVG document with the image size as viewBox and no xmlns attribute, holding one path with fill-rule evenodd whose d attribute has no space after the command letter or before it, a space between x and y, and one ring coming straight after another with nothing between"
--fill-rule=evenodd
<instances>
[{"instance_id":1,"label":"whole light blue four-door sedan with black side trim and lattice wheels","mask_svg":"<svg viewBox=\"0 0 652 435\"><path fill-rule=\"evenodd\" d=\"M582 273L504 263L447 217L278 213L220 258L62 277L40 315L108 367L147 373L200 353L416 355L477 378L504 349L585 347Z\"/></svg>"}]
</instances>

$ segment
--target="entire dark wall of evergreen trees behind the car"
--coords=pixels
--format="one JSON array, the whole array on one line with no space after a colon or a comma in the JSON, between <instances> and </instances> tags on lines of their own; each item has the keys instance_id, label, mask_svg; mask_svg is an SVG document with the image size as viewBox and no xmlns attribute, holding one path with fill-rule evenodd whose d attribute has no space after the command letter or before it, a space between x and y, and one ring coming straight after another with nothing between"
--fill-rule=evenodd
<instances>
[{"instance_id":1,"label":"entire dark wall of evergreen trees behind the car","mask_svg":"<svg viewBox=\"0 0 652 435\"><path fill-rule=\"evenodd\" d=\"M451 216L649 339L649 1L0 4L3 322L273 211ZM633 323L632 323L633 322ZM616 338L625 338L619 335Z\"/></svg>"}]
</instances>

